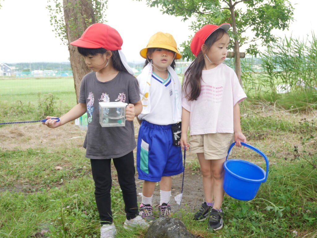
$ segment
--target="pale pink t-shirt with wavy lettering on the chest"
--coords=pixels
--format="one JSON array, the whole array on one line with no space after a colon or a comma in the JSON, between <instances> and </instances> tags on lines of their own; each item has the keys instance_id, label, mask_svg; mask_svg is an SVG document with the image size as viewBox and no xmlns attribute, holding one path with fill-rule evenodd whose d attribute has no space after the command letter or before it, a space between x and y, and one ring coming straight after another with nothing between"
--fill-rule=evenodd
<instances>
[{"instance_id":1,"label":"pale pink t-shirt with wavy lettering on the chest","mask_svg":"<svg viewBox=\"0 0 317 238\"><path fill-rule=\"evenodd\" d=\"M229 66L219 64L203 70L197 100L188 101L182 93L183 108L191 113L190 135L233 133L233 106L246 97L235 71Z\"/></svg>"}]
</instances>

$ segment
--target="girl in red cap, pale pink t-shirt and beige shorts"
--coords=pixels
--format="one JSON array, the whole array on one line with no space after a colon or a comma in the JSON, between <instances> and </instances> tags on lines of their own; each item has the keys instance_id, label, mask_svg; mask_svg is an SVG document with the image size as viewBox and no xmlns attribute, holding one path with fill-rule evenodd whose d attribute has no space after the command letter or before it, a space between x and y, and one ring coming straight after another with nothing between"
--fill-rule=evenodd
<instances>
[{"instance_id":1,"label":"girl in red cap, pale pink t-shirt and beige shorts","mask_svg":"<svg viewBox=\"0 0 317 238\"><path fill-rule=\"evenodd\" d=\"M185 72L182 93L184 145L197 153L203 174L205 202L194 220L209 217L208 229L223 227L223 162L233 141L246 142L241 131L239 102L247 96L233 69L223 64L227 56L230 24L205 25L191 41L196 56ZM190 141L187 130L190 127ZM186 149L187 149L186 148Z\"/></svg>"}]
</instances>

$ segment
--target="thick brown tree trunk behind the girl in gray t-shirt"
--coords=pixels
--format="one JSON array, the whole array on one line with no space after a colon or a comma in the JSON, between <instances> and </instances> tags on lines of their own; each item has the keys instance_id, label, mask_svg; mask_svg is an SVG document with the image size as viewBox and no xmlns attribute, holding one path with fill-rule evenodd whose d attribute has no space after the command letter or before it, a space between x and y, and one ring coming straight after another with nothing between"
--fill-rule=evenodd
<instances>
[{"instance_id":1,"label":"thick brown tree trunk behind the girl in gray t-shirt","mask_svg":"<svg viewBox=\"0 0 317 238\"><path fill-rule=\"evenodd\" d=\"M70 66L73 71L76 101L78 102L82 77L89 73L90 69L78 53L77 47L70 43L77 40L89 25L95 23L94 10L91 0L63 0L63 10Z\"/></svg>"}]
</instances>

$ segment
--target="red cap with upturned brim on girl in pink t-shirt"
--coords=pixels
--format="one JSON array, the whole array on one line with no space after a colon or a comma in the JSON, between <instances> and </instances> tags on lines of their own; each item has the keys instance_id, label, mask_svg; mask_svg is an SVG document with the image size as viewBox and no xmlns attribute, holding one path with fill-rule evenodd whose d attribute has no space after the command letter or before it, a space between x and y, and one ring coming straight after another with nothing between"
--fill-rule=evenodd
<instances>
[{"instance_id":1,"label":"red cap with upturned brim on girl in pink t-shirt","mask_svg":"<svg viewBox=\"0 0 317 238\"><path fill-rule=\"evenodd\" d=\"M219 26L211 24L204 25L195 33L193 39L191 40L191 52L197 57L197 55L201 51L202 45L205 43L212 32L220 28L228 31L230 27L231 25L229 23L223 23Z\"/></svg>"}]
</instances>

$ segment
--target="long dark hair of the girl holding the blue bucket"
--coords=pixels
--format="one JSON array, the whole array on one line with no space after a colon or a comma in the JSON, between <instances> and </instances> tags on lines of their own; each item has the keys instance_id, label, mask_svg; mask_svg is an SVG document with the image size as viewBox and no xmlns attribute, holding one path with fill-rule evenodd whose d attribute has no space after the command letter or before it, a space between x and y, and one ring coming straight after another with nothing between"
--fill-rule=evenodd
<instances>
[{"instance_id":1,"label":"long dark hair of the girl holding the blue bucket","mask_svg":"<svg viewBox=\"0 0 317 238\"><path fill-rule=\"evenodd\" d=\"M228 33L223 29L215 30L205 41L207 50L210 49L213 43L223 37L224 34ZM200 51L196 59L191 63L184 74L186 81L183 84L183 92L188 101L197 100L198 96L200 95L200 80L204 65L204 54L202 51Z\"/></svg>"}]
</instances>

